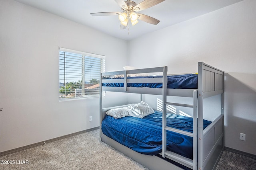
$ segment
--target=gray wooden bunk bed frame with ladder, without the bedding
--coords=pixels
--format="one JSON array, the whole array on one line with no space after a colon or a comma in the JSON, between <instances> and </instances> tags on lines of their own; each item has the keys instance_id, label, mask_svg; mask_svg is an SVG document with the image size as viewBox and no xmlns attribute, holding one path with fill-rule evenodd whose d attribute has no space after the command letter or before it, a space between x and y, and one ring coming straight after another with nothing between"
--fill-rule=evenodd
<instances>
[{"instance_id":1,"label":"gray wooden bunk bed frame with ladder, without the bedding","mask_svg":"<svg viewBox=\"0 0 256 170\"><path fill-rule=\"evenodd\" d=\"M128 74L138 73L152 73L162 72L162 78L136 78L127 79ZM123 79L102 79L103 76L111 75L124 75ZM119 82L124 83L124 87L106 87L102 86L104 82ZM163 83L163 88L136 88L127 87L129 82L160 82ZM182 170L182 168L166 161L163 158L174 160L179 164L187 166L193 170L214 170L218 164L220 156L224 150L224 71L214 68L203 62L198 63L198 89L169 89L167 88L167 66L156 68L144 68L136 70L124 70L118 72L105 72L100 74L100 140L110 145L111 147L119 150L128 157L132 158L136 162L149 168L150 170ZM162 95L163 101L163 123L162 123L162 155L163 158L158 156L150 156L135 152L128 147L121 145L113 139L104 135L101 131L101 123L105 117L105 112L112 108L123 107L114 106L108 108L102 108L102 92L126 92L136 94L154 94ZM221 95L221 110L220 115L212 121L208 127L203 129L203 103L204 99ZM180 104L170 103L166 101L167 96L181 96L193 98L193 104ZM142 98L142 97L141 97ZM166 106L183 106L193 108L193 133L166 127ZM126 105L124 105L126 106ZM183 135L193 137L193 160L185 158L166 150L166 131L174 131Z\"/></svg>"}]
</instances>

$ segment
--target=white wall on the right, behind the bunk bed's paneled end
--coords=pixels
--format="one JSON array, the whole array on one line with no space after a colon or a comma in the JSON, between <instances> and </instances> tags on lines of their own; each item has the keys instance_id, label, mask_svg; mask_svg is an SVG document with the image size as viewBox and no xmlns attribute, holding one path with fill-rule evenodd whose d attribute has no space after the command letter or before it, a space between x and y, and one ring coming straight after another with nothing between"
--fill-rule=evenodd
<instances>
[{"instance_id":1,"label":"white wall on the right, behind the bunk bed's paneled end","mask_svg":"<svg viewBox=\"0 0 256 170\"><path fill-rule=\"evenodd\" d=\"M203 61L224 70L225 146L256 154L255 30L256 1L244 0L129 41L136 49L130 50L129 64L189 73Z\"/></svg>"}]
</instances>

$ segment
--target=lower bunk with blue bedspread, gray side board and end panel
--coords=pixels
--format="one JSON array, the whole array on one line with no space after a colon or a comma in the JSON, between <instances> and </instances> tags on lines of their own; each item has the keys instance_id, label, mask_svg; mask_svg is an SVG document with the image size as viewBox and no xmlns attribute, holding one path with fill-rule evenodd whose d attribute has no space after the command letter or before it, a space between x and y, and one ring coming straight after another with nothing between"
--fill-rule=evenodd
<instances>
[{"instance_id":1,"label":"lower bunk with blue bedspread, gray side board and end panel","mask_svg":"<svg viewBox=\"0 0 256 170\"><path fill-rule=\"evenodd\" d=\"M190 168L162 158L162 113L155 112L144 118L102 115L101 140L129 156L150 170L190 170ZM104 117L104 119L103 119ZM168 114L169 125L192 132L193 118ZM223 151L223 118L220 115L213 122L204 120L204 169L215 169ZM193 138L170 132L167 135L167 149L186 158L193 159Z\"/></svg>"}]
</instances>

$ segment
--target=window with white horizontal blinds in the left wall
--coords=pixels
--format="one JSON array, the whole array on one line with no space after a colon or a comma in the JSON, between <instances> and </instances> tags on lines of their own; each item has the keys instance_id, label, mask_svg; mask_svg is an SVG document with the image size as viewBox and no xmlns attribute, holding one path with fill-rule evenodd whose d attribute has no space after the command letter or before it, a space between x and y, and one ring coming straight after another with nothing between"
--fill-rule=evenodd
<instances>
[{"instance_id":1,"label":"window with white horizontal blinds in the left wall","mask_svg":"<svg viewBox=\"0 0 256 170\"><path fill-rule=\"evenodd\" d=\"M59 100L98 97L105 56L60 48L59 57Z\"/></svg>"}]
</instances>

